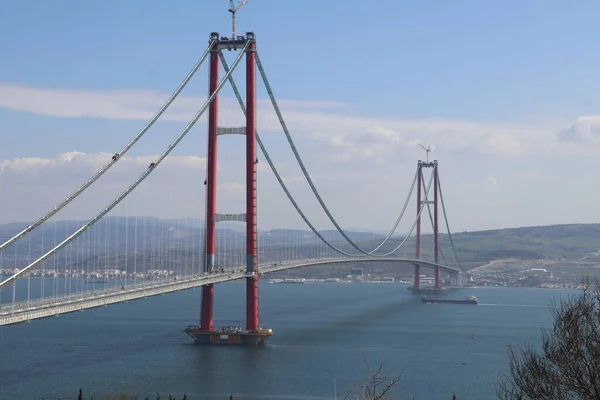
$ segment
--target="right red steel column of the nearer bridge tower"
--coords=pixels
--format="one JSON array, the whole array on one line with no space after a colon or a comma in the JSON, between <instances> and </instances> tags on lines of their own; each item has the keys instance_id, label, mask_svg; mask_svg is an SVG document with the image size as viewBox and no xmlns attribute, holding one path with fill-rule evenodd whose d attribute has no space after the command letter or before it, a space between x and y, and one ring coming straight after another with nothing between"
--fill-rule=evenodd
<instances>
[{"instance_id":1,"label":"right red steel column of the nearer bridge tower","mask_svg":"<svg viewBox=\"0 0 600 400\"><path fill-rule=\"evenodd\" d=\"M253 39L250 39L253 40ZM258 330L258 249L256 233L256 43L246 51L246 329Z\"/></svg>"}]
</instances>

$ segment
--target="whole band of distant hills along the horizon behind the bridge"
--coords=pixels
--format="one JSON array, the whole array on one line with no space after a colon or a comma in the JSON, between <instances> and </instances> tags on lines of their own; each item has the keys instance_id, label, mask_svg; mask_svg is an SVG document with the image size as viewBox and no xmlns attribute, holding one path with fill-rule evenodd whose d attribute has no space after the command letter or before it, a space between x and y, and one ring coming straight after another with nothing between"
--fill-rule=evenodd
<instances>
[{"instance_id":1,"label":"whole band of distant hills along the horizon behind the bridge","mask_svg":"<svg viewBox=\"0 0 600 400\"><path fill-rule=\"evenodd\" d=\"M23 239L17 246L17 266L27 263L60 243L74 232L81 222L59 221L47 224L34 231L30 239ZM0 225L0 242L6 241L18 233L26 223ZM219 224L217 237L224 246L235 246L244 242L245 232L240 225ZM337 231L321 231L327 240L342 246L343 238ZM361 247L370 250L385 238L385 235L370 232L348 232L348 236L360 243ZM128 240L126 240L126 237ZM575 261L580 259L600 261L600 224L550 225L524 228L495 229L477 232L457 232L452 234L457 255L462 264L472 268L492 260L516 258L523 260L564 259ZM259 233L261 252L264 254L281 253L284 248L299 246L301 257L316 256L314 244L318 238L309 230L274 229ZM394 249L402 237L393 237L380 251ZM103 254L115 254L145 250L148 257L164 257L155 254L162 249L177 252L181 256L189 252L198 252L203 247L204 223L194 219L161 220L152 217L108 217L99 221L86 232L76 243L80 257L104 257ZM348 245L342 247L349 249ZM440 247L448 264L453 265L453 254L448 235L440 235ZM401 250L401 255L413 257L415 249L414 237L408 238ZM432 235L422 238L423 257L431 258L433 253ZM145 253L146 254L146 253ZM15 252L4 251L5 267L15 264ZM66 260L72 254L64 254ZM172 256L172 255L171 255ZM59 255L59 257L61 257ZM108 257L108 256L107 256ZM186 255L187 257L187 255ZM263 261L264 258L263 258Z\"/></svg>"}]
</instances>

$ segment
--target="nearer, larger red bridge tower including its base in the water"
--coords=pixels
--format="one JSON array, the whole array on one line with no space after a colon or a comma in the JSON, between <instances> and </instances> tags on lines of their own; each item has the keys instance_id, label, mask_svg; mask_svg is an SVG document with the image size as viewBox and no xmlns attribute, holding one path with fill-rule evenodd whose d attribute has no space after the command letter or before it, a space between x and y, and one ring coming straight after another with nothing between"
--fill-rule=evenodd
<instances>
[{"instance_id":1,"label":"nearer, larger red bridge tower including its base in the water","mask_svg":"<svg viewBox=\"0 0 600 400\"><path fill-rule=\"evenodd\" d=\"M256 158L256 41L252 32L235 38L219 38L211 34L209 95L219 86L219 60L221 50L244 50L246 56L246 126L236 133L246 135L246 213L238 215L217 214L217 137L231 133L228 128L219 128L218 97L215 95L208 110L208 160L206 176L206 243L204 272L223 271L227 266L215 262L216 223L219 221L246 222L246 329L213 328L213 285L202 287L202 306L199 326L189 326L185 332L202 344L263 344L272 334L271 329L262 329L258 313L258 233L257 233L257 158ZM243 132L242 132L243 131ZM231 219L231 217L235 217ZM227 219L224 219L227 218ZM215 268L215 266L217 268Z\"/></svg>"}]
</instances>

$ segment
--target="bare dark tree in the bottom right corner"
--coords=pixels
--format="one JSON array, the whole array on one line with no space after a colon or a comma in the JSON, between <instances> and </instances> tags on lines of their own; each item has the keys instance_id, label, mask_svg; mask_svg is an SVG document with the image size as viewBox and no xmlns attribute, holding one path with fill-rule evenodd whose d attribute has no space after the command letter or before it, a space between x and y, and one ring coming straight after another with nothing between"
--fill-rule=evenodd
<instances>
[{"instance_id":1,"label":"bare dark tree in the bottom right corner","mask_svg":"<svg viewBox=\"0 0 600 400\"><path fill-rule=\"evenodd\" d=\"M496 385L502 400L600 399L600 290L553 302L552 329L542 349L508 350L508 376Z\"/></svg>"}]
</instances>

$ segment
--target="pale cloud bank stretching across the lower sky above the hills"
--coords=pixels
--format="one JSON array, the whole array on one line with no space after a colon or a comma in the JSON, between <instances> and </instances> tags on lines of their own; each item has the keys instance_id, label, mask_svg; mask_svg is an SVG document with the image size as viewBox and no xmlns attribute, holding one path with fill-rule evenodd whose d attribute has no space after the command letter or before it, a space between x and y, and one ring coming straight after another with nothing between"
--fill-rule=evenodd
<instances>
[{"instance_id":1,"label":"pale cloud bank stretching across the lower sky above the hills","mask_svg":"<svg viewBox=\"0 0 600 400\"><path fill-rule=\"evenodd\" d=\"M227 96L226 92L220 98L221 125L243 124L235 100ZM23 113L20 118L36 114L117 124L143 121L150 119L167 97L150 90L62 90L0 83L0 108ZM202 96L182 95L165 113L167 122L163 124L187 122L204 100ZM600 116L562 122L550 118L484 122L363 116L351 104L336 101L281 100L280 105L311 176L343 226L369 230L391 226L408 193L416 160L424 158L419 144L431 145L430 158L440 162L453 230L600 221L594 200L600 195L594 185L600 166ZM309 193L265 99L259 99L258 128L303 208L319 221L320 228L331 228ZM124 128L119 132L123 145L134 133ZM239 212L244 204L243 144L223 139L219 149L219 206L223 212ZM21 135L12 140L27 138ZM93 207L98 211L143 172L170 139L161 140L151 153L124 157L103 177L98 189L82 200L78 211L65 216L78 214L83 219L94 213ZM127 213L202 215L205 147L188 148L184 143L153 173L147 187L140 188ZM64 147L53 157L12 154L0 160L0 188L7 210L0 215L0 222L38 217L85 182L114 153L105 148L77 151L69 148L69 143L56 145ZM262 155L259 159L261 229L304 228ZM159 198L164 198L162 208L151 204L161 201ZM124 210L125 206L120 212Z\"/></svg>"}]
</instances>

